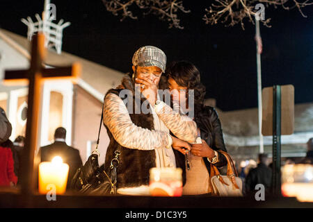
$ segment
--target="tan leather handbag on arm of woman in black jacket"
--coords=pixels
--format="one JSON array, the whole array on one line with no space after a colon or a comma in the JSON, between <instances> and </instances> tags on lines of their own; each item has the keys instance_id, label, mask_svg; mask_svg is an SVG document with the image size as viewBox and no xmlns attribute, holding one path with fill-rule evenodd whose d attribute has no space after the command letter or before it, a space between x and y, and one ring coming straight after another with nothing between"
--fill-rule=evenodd
<instances>
[{"instance_id":1,"label":"tan leather handbag on arm of woman in black jacket","mask_svg":"<svg viewBox=\"0 0 313 222\"><path fill-rule=\"evenodd\" d=\"M218 152L226 157L227 175L220 175L218 168L211 164L211 191L216 196L243 196L242 180L238 177L232 158L225 151Z\"/></svg>"}]
</instances>

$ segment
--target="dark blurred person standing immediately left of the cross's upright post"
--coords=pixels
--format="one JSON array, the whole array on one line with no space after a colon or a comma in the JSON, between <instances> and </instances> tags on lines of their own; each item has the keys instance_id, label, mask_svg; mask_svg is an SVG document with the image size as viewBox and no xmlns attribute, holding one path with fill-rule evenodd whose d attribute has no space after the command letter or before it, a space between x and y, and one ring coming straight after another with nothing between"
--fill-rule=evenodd
<instances>
[{"instance_id":1,"label":"dark blurred person standing immediately left of the cross's upright post","mask_svg":"<svg viewBox=\"0 0 313 222\"><path fill-rule=\"evenodd\" d=\"M13 160L14 160L14 173L17 176L17 178L20 178L22 175L22 168L21 168L21 162L22 162L22 156L23 156L23 150L24 150L24 142L25 137L18 136L16 137L15 141L13 142ZM19 184L20 180L17 180L17 183Z\"/></svg>"}]
</instances>

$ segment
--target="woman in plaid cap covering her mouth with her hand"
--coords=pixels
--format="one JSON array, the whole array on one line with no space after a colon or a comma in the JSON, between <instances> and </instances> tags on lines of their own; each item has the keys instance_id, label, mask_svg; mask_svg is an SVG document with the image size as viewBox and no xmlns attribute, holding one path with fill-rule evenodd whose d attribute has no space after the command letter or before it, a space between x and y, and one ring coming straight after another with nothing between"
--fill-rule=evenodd
<instances>
[{"instance_id":1,"label":"woman in plaid cap covering her mouth with her hand","mask_svg":"<svg viewBox=\"0 0 313 222\"><path fill-rule=\"evenodd\" d=\"M134 54L132 63L134 74L125 76L121 89L109 90L104 99L104 125L110 137L105 169L109 169L114 151L122 147L118 192L121 188L149 185L152 167L184 167L184 162L178 162L175 156L190 150L187 142L193 143L197 138L194 121L158 100L165 53L154 46L143 46ZM125 94L131 96L124 99Z\"/></svg>"}]
</instances>

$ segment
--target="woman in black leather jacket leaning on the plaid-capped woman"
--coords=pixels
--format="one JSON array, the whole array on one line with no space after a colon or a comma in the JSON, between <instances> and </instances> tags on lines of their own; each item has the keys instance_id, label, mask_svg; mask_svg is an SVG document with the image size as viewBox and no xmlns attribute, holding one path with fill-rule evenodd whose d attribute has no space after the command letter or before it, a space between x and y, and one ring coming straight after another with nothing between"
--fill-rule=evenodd
<instances>
[{"instance_id":1,"label":"woman in black leather jacket leaning on the plaid-capped woman","mask_svg":"<svg viewBox=\"0 0 313 222\"><path fill-rule=\"evenodd\" d=\"M201 137L198 144L192 145L191 154L188 155L189 169L183 169L186 170L184 194L211 193L210 165L223 167L227 164L225 157L218 152L227 152L218 114L214 108L204 105L205 87L200 82L200 72L193 64L186 61L173 62L166 69L166 77L172 100L177 101L181 107L185 106L189 113L193 109L194 121ZM194 89L194 105L191 107L188 107L188 89Z\"/></svg>"}]
</instances>

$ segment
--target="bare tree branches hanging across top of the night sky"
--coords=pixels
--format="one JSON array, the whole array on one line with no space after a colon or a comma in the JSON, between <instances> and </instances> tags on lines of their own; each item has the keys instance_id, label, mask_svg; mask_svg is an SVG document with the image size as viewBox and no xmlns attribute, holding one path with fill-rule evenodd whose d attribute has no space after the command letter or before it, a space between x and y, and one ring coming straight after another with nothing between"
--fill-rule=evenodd
<instances>
[{"instance_id":1,"label":"bare tree branches hanging across top of the night sky","mask_svg":"<svg viewBox=\"0 0 313 222\"><path fill-rule=\"evenodd\" d=\"M132 10L142 10L143 15L157 15L159 19L168 22L168 28L184 28L180 25L179 13L188 13L183 6L184 0L102 0L106 10L112 12L115 16L121 16L120 21L129 17L138 19L133 15ZM282 7L284 10L297 8L303 17L307 17L303 13L305 6L313 5L312 0L214 0L209 9L205 8L206 14L203 20L206 24L214 25L218 23L225 26L234 26L240 24L244 30L244 20L248 20L252 24L255 23L255 17L259 12L255 9L258 3L262 6L274 8ZM264 26L271 27L271 18L260 20Z\"/></svg>"}]
</instances>

